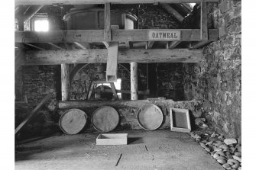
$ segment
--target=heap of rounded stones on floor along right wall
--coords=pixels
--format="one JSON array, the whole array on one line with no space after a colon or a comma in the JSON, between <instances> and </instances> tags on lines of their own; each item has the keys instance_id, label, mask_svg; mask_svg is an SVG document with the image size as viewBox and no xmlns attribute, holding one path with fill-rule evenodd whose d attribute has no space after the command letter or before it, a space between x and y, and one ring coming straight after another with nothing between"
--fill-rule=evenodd
<instances>
[{"instance_id":1,"label":"heap of rounded stones on floor along right wall","mask_svg":"<svg viewBox=\"0 0 256 170\"><path fill-rule=\"evenodd\" d=\"M196 120L196 123L203 120ZM193 131L190 136L199 143L225 169L241 169L241 142L235 138L226 138L213 130ZM239 142L238 142L239 141Z\"/></svg>"}]
</instances>

